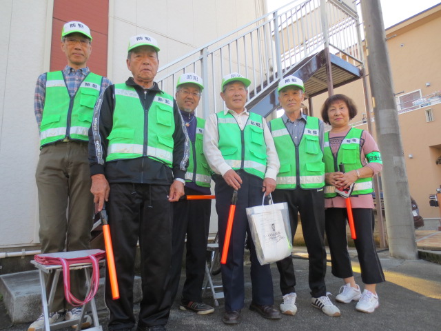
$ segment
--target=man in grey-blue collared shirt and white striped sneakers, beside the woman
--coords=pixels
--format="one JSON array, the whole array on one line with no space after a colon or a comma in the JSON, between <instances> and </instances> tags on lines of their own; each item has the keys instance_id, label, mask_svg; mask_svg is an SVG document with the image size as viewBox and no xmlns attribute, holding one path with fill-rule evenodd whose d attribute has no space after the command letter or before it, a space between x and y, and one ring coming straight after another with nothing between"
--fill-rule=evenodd
<instances>
[{"instance_id":1,"label":"man in grey-blue collared shirt and white striped sneakers, beside the woman","mask_svg":"<svg viewBox=\"0 0 441 331\"><path fill-rule=\"evenodd\" d=\"M287 202L292 236L296 234L300 212L302 232L309 254L309 288L312 305L325 314L340 316L340 310L327 297L325 251L325 163L323 162L323 122L302 114L305 87L298 77L280 80L278 100L285 114L269 122L280 159L274 202ZM294 315L296 277L291 256L277 262L283 303L280 311Z\"/></svg>"}]
</instances>

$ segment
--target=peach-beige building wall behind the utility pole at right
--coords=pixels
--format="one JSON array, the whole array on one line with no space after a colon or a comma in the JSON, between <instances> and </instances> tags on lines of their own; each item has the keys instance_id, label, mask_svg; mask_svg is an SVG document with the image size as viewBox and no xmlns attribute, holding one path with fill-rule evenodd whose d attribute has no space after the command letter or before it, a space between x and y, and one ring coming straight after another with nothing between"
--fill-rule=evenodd
<instances>
[{"instance_id":1,"label":"peach-beige building wall behind the utility pole at right","mask_svg":"<svg viewBox=\"0 0 441 331\"><path fill-rule=\"evenodd\" d=\"M420 90L422 97L441 92L440 31L441 5L386 30L396 97L416 90ZM356 102L358 116L351 123L360 124L362 113L366 112L362 80L336 88L334 93L347 94ZM314 97L313 109L316 116L320 116L320 108L326 98L325 93ZM436 193L441 185L441 164L435 163L441 157L440 101L398 116L409 190L418 203L421 216L429 222L430 219L440 218L439 209L429 205L429 194ZM431 110L433 121L427 122L427 110ZM366 124L357 127L367 130ZM376 137L375 122L372 130L373 137Z\"/></svg>"}]
</instances>

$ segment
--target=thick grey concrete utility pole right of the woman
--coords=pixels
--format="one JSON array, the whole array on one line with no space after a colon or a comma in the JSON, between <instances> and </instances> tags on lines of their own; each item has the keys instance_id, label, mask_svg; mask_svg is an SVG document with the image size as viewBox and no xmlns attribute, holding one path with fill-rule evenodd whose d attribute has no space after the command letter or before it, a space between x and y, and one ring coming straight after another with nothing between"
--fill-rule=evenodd
<instances>
[{"instance_id":1,"label":"thick grey concrete utility pole right of the woman","mask_svg":"<svg viewBox=\"0 0 441 331\"><path fill-rule=\"evenodd\" d=\"M397 6L400 5L397 3ZM418 259L380 0L361 0L361 9L373 112L383 161L381 177L389 251L391 257L398 259ZM377 197L377 200L380 201L380 197Z\"/></svg>"}]
</instances>

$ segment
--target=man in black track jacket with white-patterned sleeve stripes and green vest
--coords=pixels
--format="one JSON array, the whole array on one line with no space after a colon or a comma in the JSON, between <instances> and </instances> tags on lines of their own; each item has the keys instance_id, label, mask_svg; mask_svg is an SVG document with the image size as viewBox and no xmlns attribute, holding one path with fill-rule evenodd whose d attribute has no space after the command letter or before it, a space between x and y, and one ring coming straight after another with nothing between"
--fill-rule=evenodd
<instances>
[{"instance_id":1,"label":"man in black track jacket with white-patterned sleeve stripes and green vest","mask_svg":"<svg viewBox=\"0 0 441 331\"><path fill-rule=\"evenodd\" d=\"M125 83L107 88L96 103L89 131L94 202L107 203L120 298L112 300L106 273L109 330L132 330L134 259L141 250L143 297L138 330L165 330L165 295L172 261L172 201L184 194L186 134L173 97L161 91L158 43L146 34L130 38Z\"/></svg>"}]
</instances>

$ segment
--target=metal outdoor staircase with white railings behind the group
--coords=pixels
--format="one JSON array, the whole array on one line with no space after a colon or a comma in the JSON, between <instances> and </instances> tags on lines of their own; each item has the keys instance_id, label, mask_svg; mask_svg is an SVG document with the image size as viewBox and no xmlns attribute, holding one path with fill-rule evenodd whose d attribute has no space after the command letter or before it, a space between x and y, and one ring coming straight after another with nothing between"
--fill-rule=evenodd
<instances>
[{"instance_id":1,"label":"metal outdoor staircase with white railings behind the group","mask_svg":"<svg viewBox=\"0 0 441 331\"><path fill-rule=\"evenodd\" d=\"M184 72L199 74L205 88L198 116L207 118L224 108L222 77L238 72L252 81L247 109L266 117L278 106L278 81L288 74L305 82L310 98L362 77L358 26L345 0L292 1L159 68L158 83L170 92Z\"/></svg>"}]
</instances>

